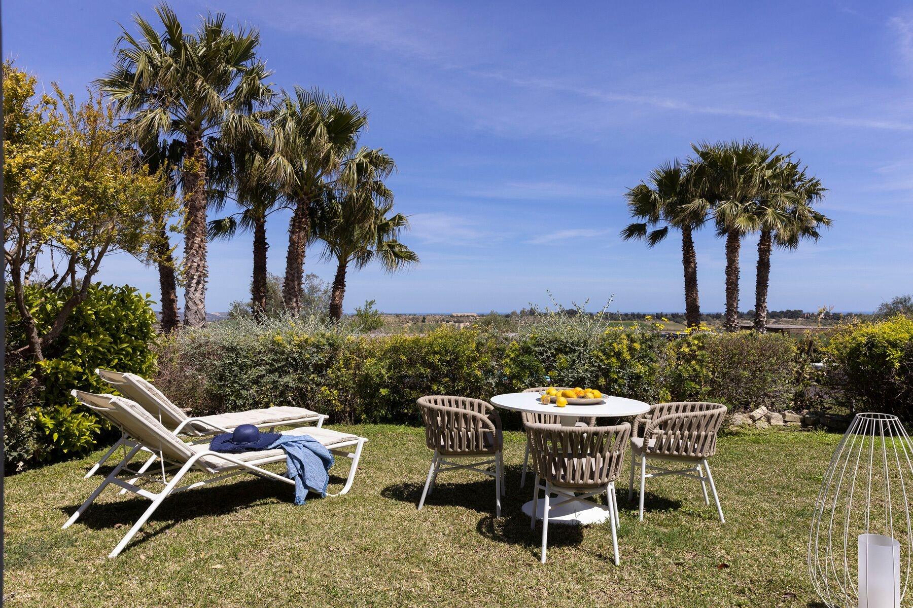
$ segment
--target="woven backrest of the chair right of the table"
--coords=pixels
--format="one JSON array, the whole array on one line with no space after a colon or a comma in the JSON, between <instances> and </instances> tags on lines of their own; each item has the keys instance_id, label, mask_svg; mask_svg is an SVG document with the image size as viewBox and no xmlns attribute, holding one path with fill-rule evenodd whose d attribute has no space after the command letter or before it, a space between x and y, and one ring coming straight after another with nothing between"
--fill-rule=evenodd
<instances>
[{"instance_id":1,"label":"woven backrest of the chair right of the table","mask_svg":"<svg viewBox=\"0 0 913 608\"><path fill-rule=\"evenodd\" d=\"M644 431L648 453L706 459L717 451L717 431L726 406L703 401L659 403L651 407Z\"/></svg>"}]
</instances>

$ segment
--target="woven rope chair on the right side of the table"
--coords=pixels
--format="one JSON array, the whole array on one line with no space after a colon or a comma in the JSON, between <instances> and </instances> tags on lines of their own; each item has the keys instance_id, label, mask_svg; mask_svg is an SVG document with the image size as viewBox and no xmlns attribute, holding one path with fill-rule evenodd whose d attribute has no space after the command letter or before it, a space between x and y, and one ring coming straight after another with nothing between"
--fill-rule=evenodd
<instances>
[{"instance_id":1,"label":"woven rope chair on the right side of the table","mask_svg":"<svg viewBox=\"0 0 913 608\"><path fill-rule=\"evenodd\" d=\"M631 478L628 481L628 500L634 498L635 468L640 468L640 515L644 520L644 488L646 478L680 475L698 479L704 492L704 502L710 504L707 484L717 503L719 521L726 523L719 504L717 487L707 459L717 452L717 431L726 417L726 406L719 403L678 402L660 403L644 416L635 418L631 437ZM643 426L643 437L640 429ZM690 465L687 469L663 469L648 465L647 459L665 460ZM639 462L638 462L639 459ZM647 473L647 469L653 472ZM704 476L707 472L707 477Z\"/></svg>"}]
</instances>

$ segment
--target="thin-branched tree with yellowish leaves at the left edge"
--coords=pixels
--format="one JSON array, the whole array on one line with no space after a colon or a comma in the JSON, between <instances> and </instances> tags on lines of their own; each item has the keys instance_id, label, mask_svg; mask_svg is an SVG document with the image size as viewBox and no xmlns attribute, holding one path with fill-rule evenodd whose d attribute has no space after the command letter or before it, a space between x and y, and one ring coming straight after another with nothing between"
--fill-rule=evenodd
<instances>
[{"instance_id":1,"label":"thin-branched tree with yellowish leaves at the left edge","mask_svg":"<svg viewBox=\"0 0 913 608\"><path fill-rule=\"evenodd\" d=\"M89 92L79 105L54 85L35 94L36 78L4 65L4 255L26 345L10 360L40 362L85 301L101 261L114 252L148 259L159 232L153 217L174 211L163 179L142 168L116 137L115 111ZM47 264L39 269L40 264ZM62 302L40 332L26 288L41 270L41 297Z\"/></svg>"}]
</instances>

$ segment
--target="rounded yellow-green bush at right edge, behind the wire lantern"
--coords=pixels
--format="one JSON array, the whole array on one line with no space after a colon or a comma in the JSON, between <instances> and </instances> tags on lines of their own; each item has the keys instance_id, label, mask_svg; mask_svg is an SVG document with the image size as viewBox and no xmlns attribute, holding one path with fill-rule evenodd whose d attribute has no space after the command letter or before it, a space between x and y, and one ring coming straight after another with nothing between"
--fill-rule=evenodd
<instances>
[{"instance_id":1,"label":"rounded yellow-green bush at right edge, behind the wire lantern","mask_svg":"<svg viewBox=\"0 0 913 608\"><path fill-rule=\"evenodd\" d=\"M913 420L913 318L840 325L822 350L847 407Z\"/></svg>"}]
</instances>

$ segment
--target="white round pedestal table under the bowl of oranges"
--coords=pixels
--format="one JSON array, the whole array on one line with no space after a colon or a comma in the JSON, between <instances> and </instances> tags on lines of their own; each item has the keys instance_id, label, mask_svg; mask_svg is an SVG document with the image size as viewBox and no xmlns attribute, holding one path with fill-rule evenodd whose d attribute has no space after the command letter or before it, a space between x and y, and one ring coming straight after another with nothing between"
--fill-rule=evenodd
<instances>
[{"instance_id":1,"label":"white round pedestal table under the bowl of oranges","mask_svg":"<svg viewBox=\"0 0 913 608\"><path fill-rule=\"evenodd\" d=\"M530 412L530 414L551 414L559 416L561 424L565 427L574 426L580 418L588 417L628 417L639 416L650 411L650 406L643 401L628 399L626 397L603 397L603 402L593 406L565 406L558 407L553 403L542 403L539 393L508 393L491 397L494 406L512 409L515 412ZM538 492L537 492L538 493ZM532 500L523 505L523 512L532 517ZM536 509L539 519L545 512L545 499L539 499ZM587 525L602 523L609 519L607 510L598 506L587 507L581 500L567 500L560 496L551 500L549 523Z\"/></svg>"}]
</instances>

